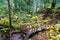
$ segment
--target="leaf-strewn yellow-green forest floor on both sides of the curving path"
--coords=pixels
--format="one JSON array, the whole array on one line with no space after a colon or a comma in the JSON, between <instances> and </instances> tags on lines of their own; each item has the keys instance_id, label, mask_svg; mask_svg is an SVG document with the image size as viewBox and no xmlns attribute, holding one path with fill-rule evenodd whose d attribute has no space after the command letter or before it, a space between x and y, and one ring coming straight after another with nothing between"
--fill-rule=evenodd
<instances>
[{"instance_id":1,"label":"leaf-strewn yellow-green forest floor on both sides of the curving path","mask_svg":"<svg viewBox=\"0 0 60 40\"><path fill-rule=\"evenodd\" d=\"M0 18L1 18L0 19L0 33L2 34L1 36L3 37L3 39L6 39L8 37L6 40L8 40L10 37L9 18L7 15L4 15L4 16L0 15ZM40 26L43 23L49 24L49 27L46 28L47 29L46 31L39 32L38 34L31 37L31 39L29 40L57 40L57 35L60 34L57 30L59 29L59 26L56 27L57 24L58 25L60 24L55 23L56 20L53 18L51 19L49 17L43 20L43 15L41 14L39 15L26 14L23 17L22 15L12 13L11 19L12 19L12 31L11 32L19 32L21 30L20 29L21 27L23 28L22 30L24 29L26 30L26 28L29 29L35 26ZM54 26L54 28L51 28L51 26L52 27ZM42 28L44 28L44 26Z\"/></svg>"}]
</instances>

